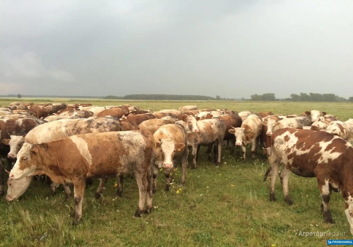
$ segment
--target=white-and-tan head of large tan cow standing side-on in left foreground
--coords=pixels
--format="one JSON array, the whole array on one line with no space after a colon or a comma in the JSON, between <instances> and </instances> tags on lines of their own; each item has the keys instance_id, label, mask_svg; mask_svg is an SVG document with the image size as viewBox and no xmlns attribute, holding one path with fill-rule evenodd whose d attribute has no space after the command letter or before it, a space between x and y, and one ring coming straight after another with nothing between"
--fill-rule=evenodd
<instances>
[{"instance_id":1,"label":"white-and-tan head of large tan cow standing side-on in left foreground","mask_svg":"<svg viewBox=\"0 0 353 247\"><path fill-rule=\"evenodd\" d=\"M17 154L17 160L14 164L9 177L11 179L19 179L24 176L32 176L36 169L36 156L38 155L37 147L24 143Z\"/></svg>"}]
</instances>

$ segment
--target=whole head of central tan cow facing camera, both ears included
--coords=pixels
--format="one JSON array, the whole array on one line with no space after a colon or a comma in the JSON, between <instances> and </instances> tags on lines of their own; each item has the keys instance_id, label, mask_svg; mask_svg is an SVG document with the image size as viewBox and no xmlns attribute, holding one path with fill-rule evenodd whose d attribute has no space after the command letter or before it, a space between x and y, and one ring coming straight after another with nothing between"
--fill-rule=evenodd
<instances>
[{"instance_id":1,"label":"whole head of central tan cow facing camera, both ears included","mask_svg":"<svg viewBox=\"0 0 353 247\"><path fill-rule=\"evenodd\" d=\"M170 169L173 167L173 160L176 152L184 150L184 143L175 143L170 138L161 139L160 143L156 143L156 148L159 149L159 155L156 155L156 164L158 167Z\"/></svg>"}]
</instances>

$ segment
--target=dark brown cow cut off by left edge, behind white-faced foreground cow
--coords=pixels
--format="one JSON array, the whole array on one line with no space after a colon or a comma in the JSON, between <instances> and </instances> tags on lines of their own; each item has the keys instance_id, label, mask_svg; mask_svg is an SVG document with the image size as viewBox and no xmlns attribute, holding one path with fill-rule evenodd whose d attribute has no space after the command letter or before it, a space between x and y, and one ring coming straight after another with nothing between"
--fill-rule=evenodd
<instances>
[{"instance_id":1,"label":"dark brown cow cut off by left edge, behind white-faced foreground cow","mask_svg":"<svg viewBox=\"0 0 353 247\"><path fill-rule=\"evenodd\" d=\"M1 163L1 158L7 158L7 170L11 170L12 160L14 158L11 154L8 154L10 151L7 146L10 141L10 135L25 135L34 127L45 123L46 121L40 119L8 119L0 120L0 195L5 193L4 191L4 166Z\"/></svg>"}]
</instances>

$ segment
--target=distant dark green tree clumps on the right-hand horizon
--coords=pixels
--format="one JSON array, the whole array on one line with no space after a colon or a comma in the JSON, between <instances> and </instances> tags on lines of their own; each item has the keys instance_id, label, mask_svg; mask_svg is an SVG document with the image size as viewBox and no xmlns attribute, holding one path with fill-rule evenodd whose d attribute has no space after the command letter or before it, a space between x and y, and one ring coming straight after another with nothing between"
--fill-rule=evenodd
<instances>
[{"instance_id":1,"label":"distant dark green tree clumps on the right-hand horizon","mask_svg":"<svg viewBox=\"0 0 353 247\"><path fill-rule=\"evenodd\" d=\"M275 94L253 94L250 96L251 101L277 101ZM353 97L348 100L335 94L315 94L315 93L300 93L291 94L290 98L282 99L282 101L321 101L321 102L353 102Z\"/></svg>"}]
</instances>

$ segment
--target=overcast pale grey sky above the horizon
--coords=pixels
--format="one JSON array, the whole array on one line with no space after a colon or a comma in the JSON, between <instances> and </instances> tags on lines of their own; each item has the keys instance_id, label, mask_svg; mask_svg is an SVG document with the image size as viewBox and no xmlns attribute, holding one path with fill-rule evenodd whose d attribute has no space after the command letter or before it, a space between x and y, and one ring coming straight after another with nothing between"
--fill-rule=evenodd
<instances>
[{"instance_id":1,"label":"overcast pale grey sky above the horizon","mask_svg":"<svg viewBox=\"0 0 353 247\"><path fill-rule=\"evenodd\" d=\"M353 96L353 1L0 3L0 95Z\"/></svg>"}]
</instances>

